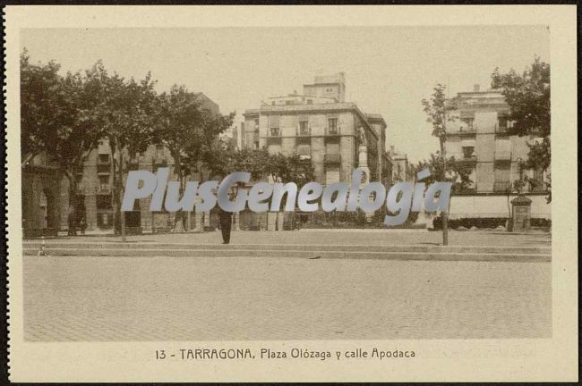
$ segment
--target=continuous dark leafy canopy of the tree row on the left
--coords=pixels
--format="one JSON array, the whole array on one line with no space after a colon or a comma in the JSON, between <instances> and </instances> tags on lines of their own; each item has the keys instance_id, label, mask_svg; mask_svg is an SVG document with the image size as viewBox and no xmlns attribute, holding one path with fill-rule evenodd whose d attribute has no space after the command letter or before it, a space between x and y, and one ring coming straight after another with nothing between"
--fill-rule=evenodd
<instances>
[{"instance_id":1,"label":"continuous dark leafy canopy of the tree row on the left","mask_svg":"<svg viewBox=\"0 0 582 386\"><path fill-rule=\"evenodd\" d=\"M21 163L47 155L69 180L69 197L76 197L76 173L98 141L108 139L114 176L113 204L119 213L124 174L150 145L163 144L174 160L181 182L194 172L216 179L248 171L253 180L271 176L304 184L312 179L311 163L299 155L270 155L266 149L236 150L219 135L232 126L235 113L213 113L199 94L174 85L158 94L150 73L126 80L95 63L83 72L59 73L55 62L30 63L21 54ZM116 216L116 222L119 221ZM124 229L121 217L122 234Z\"/></svg>"}]
</instances>

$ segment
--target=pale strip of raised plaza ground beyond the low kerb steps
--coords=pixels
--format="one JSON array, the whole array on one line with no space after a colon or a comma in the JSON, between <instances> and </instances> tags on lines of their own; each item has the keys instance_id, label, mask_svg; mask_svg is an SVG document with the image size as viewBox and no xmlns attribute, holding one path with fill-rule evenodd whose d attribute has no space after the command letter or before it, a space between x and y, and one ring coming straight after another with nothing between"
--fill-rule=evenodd
<instances>
[{"instance_id":1,"label":"pale strip of raised plaza ground beyond the low kerb steps","mask_svg":"<svg viewBox=\"0 0 582 386\"><path fill-rule=\"evenodd\" d=\"M111 241L121 238L115 236L77 236L48 239L56 241ZM166 233L128 236L129 242L165 242L201 244L220 244L219 231L205 233ZM231 244L442 244L441 231L426 230L302 230L302 231L234 231ZM515 246L549 247L551 233L509 233L505 231L449 231L449 244L466 246Z\"/></svg>"}]
</instances>

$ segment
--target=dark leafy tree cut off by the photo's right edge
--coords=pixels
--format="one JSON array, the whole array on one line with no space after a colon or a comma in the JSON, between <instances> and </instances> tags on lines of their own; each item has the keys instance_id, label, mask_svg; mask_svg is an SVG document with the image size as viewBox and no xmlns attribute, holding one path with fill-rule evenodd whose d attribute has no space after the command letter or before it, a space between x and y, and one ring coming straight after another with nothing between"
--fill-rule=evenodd
<instances>
[{"instance_id":1,"label":"dark leafy tree cut off by the photo's right edge","mask_svg":"<svg viewBox=\"0 0 582 386\"><path fill-rule=\"evenodd\" d=\"M509 105L508 119L512 122L509 134L519 137L535 135L543 138L528 144L529 153L525 167L547 172L551 164L551 87L550 63L535 57L534 63L521 74L511 69L501 73L496 68L492 73L492 88L501 89ZM551 188L551 180L532 181L545 183ZM548 202L552 193L548 196Z\"/></svg>"}]
</instances>

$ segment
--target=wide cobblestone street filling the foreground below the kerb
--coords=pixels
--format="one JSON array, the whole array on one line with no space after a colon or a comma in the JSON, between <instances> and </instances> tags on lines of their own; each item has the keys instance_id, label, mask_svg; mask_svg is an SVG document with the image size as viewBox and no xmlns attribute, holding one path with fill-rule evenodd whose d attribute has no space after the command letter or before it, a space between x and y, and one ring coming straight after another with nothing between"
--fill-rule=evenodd
<instances>
[{"instance_id":1,"label":"wide cobblestone street filling the foreground below the kerb","mask_svg":"<svg viewBox=\"0 0 582 386\"><path fill-rule=\"evenodd\" d=\"M24 256L26 340L552 335L552 264Z\"/></svg>"}]
</instances>

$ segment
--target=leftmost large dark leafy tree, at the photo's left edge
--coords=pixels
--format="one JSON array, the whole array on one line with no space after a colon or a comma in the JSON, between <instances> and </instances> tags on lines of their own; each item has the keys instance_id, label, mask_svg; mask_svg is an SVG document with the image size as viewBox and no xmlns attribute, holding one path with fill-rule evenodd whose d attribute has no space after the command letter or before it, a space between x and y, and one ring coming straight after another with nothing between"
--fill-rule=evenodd
<instances>
[{"instance_id":1,"label":"leftmost large dark leafy tree, at the photo's left edge","mask_svg":"<svg viewBox=\"0 0 582 386\"><path fill-rule=\"evenodd\" d=\"M26 50L21 55L21 162L24 167L45 154L57 165L69 183L71 215L78 201L75 174L101 136L92 122L99 102L80 73L62 77L59 69L55 62L30 63Z\"/></svg>"}]
</instances>

